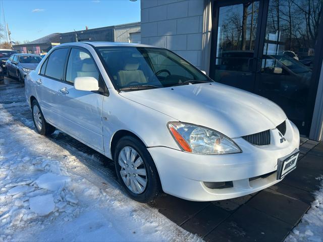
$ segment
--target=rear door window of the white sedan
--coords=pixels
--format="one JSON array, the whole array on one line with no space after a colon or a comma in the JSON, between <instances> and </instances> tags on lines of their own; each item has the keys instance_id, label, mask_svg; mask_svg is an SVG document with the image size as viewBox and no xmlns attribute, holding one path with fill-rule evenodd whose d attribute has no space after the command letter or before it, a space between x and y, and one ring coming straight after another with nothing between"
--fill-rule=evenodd
<instances>
[{"instance_id":1,"label":"rear door window of the white sedan","mask_svg":"<svg viewBox=\"0 0 323 242\"><path fill-rule=\"evenodd\" d=\"M51 52L48 57L45 72L47 77L63 80L64 66L68 51L68 48L62 48Z\"/></svg>"}]
</instances>

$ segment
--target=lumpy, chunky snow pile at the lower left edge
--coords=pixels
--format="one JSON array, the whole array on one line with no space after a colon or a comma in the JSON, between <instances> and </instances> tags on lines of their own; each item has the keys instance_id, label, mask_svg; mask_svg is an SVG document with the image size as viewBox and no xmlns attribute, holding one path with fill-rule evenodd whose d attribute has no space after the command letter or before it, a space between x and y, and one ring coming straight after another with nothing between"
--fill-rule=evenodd
<instances>
[{"instance_id":1,"label":"lumpy, chunky snow pile at the lower left edge","mask_svg":"<svg viewBox=\"0 0 323 242\"><path fill-rule=\"evenodd\" d=\"M78 200L67 186L71 178L62 174L58 161L31 159L26 148L11 143L8 149L3 139L0 145L0 241L11 240L14 231L29 223L42 223L42 216L72 220L78 215Z\"/></svg>"}]
</instances>

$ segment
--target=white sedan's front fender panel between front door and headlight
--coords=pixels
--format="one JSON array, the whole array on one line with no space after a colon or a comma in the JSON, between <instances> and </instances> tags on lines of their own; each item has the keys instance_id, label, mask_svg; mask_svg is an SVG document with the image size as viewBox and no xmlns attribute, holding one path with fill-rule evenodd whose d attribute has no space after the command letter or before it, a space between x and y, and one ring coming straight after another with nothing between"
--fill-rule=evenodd
<instances>
[{"instance_id":1,"label":"white sedan's front fender panel between front door and headlight","mask_svg":"<svg viewBox=\"0 0 323 242\"><path fill-rule=\"evenodd\" d=\"M135 134L146 147L179 149L167 128L167 123L171 121L178 120L119 94L104 97L102 127L105 155L113 158L111 142L114 134L120 130Z\"/></svg>"}]
</instances>

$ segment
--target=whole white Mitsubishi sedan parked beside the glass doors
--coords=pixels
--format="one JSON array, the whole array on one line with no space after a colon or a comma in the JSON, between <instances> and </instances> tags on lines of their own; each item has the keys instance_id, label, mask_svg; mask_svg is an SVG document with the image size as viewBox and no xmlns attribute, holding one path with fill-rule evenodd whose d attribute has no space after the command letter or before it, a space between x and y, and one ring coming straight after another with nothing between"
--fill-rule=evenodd
<instances>
[{"instance_id":1,"label":"whole white Mitsubishi sedan parked beside the glass doors","mask_svg":"<svg viewBox=\"0 0 323 242\"><path fill-rule=\"evenodd\" d=\"M219 84L142 44L52 48L26 78L36 131L55 128L114 160L128 195L244 196L296 168L299 132L272 101Z\"/></svg>"}]
</instances>

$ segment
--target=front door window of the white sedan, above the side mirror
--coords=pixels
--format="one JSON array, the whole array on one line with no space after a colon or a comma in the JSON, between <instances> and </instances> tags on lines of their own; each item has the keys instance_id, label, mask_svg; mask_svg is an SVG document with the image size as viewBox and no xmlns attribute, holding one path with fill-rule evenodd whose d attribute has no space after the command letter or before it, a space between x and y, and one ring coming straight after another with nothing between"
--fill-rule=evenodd
<instances>
[{"instance_id":1,"label":"front door window of the white sedan, above the side mirror","mask_svg":"<svg viewBox=\"0 0 323 242\"><path fill-rule=\"evenodd\" d=\"M77 77L94 77L99 80L99 73L88 52L72 48L67 64L66 81L74 83Z\"/></svg>"}]
</instances>

